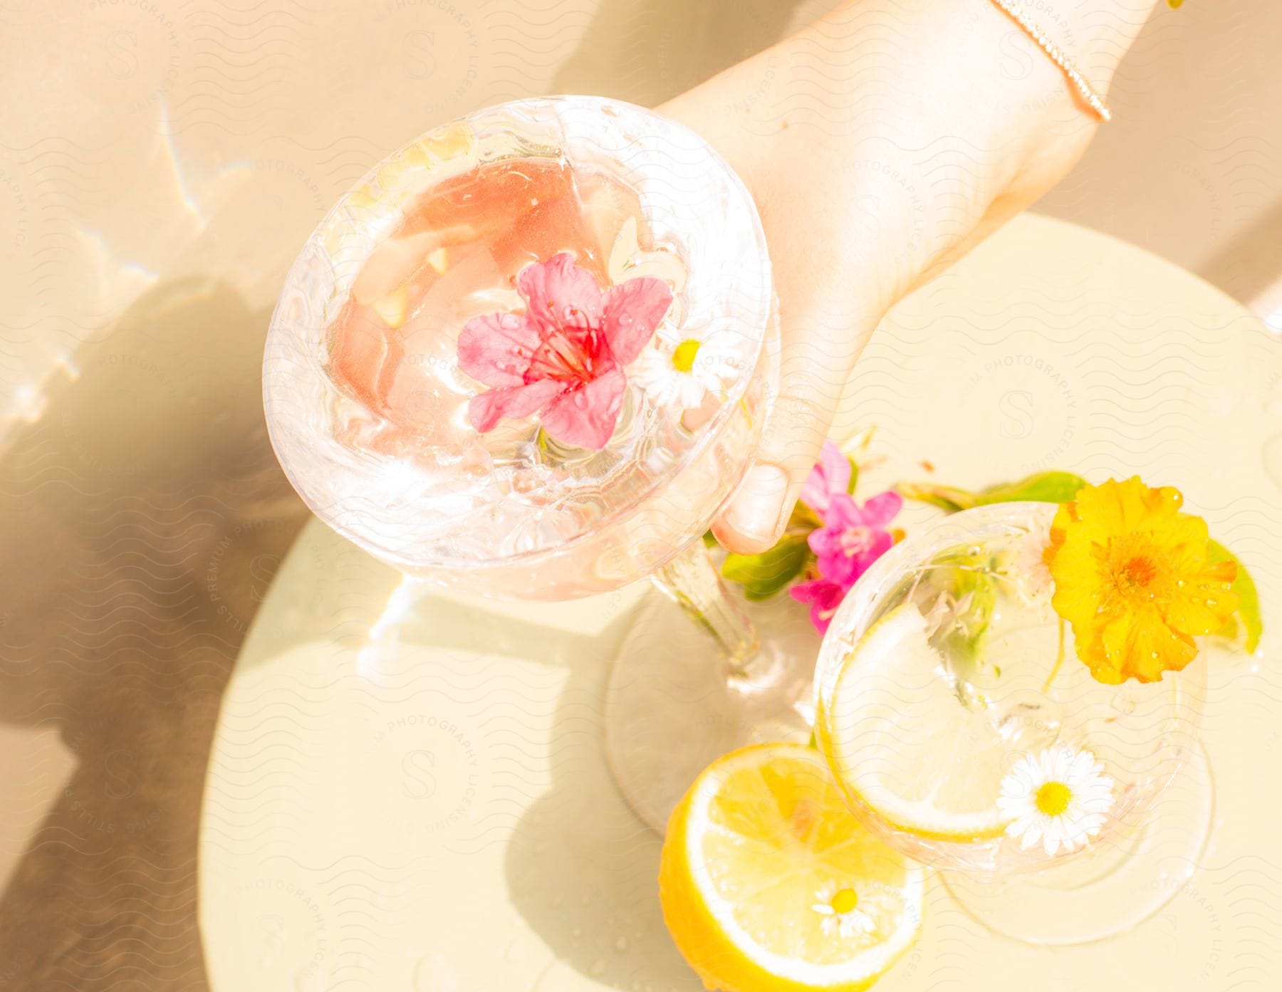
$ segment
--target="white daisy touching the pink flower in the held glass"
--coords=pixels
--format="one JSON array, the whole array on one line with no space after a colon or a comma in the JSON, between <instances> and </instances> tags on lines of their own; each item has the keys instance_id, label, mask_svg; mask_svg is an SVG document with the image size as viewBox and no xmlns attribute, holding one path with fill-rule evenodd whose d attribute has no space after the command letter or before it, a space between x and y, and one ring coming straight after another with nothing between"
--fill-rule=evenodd
<instances>
[{"instance_id":1,"label":"white daisy touching the pink flower in the held glass","mask_svg":"<svg viewBox=\"0 0 1282 992\"><path fill-rule=\"evenodd\" d=\"M658 406L695 410L740 376L744 340L727 329L660 327L654 343L628 367L628 378Z\"/></svg>"}]
</instances>

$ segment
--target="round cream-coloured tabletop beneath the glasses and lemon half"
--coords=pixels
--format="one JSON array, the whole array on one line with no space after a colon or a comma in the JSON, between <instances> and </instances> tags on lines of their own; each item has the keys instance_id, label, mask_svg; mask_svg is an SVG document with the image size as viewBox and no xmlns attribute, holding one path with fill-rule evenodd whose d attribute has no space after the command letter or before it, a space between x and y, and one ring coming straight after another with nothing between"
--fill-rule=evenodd
<instances>
[{"instance_id":1,"label":"round cream-coloured tabletop beneath the glasses and lemon half","mask_svg":"<svg viewBox=\"0 0 1282 992\"><path fill-rule=\"evenodd\" d=\"M867 424L881 482L929 463L962 486L1049 467L1178 483L1279 601L1282 345L1132 246L1010 224L874 336L835 433ZM310 524L245 643L210 757L213 987L696 988L659 915L659 838L603 757L608 663L646 593L423 596ZM1053 951L994 936L933 884L920 943L878 989L1276 988L1276 633L1255 657L1213 659L1211 838L1160 914Z\"/></svg>"}]
</instances>

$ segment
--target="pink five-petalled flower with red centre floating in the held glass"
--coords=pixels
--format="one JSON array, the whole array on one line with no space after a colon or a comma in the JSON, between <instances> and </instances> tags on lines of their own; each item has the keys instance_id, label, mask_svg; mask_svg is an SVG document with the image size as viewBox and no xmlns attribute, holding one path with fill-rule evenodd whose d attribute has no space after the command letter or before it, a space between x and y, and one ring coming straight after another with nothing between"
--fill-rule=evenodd
<instances>
[{"instance_id":1,"label":"pink five-petalled flower with red centre floating in the held glass","mask_svg":"<svg viewBox=\"0 0 1282 992\"><path fill-rule=\"evenodd\" d=\"M468 404L485 433L504 417L541 414L565 445L600 450L614 433L633 361L672 304L660 279L637 278L601 292L596 278L562 252L520 270L526 313L486 314L459 335L459 368L494 388Z\"/></svg>"}]
</instances>

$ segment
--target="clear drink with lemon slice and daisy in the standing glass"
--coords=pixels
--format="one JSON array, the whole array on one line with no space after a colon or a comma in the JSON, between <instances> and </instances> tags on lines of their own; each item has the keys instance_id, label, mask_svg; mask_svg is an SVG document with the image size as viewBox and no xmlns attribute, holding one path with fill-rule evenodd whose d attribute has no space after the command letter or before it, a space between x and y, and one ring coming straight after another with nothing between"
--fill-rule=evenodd
<instances>
[{"instance_id":1,"label":"clear drink with lemon slice and daisy in the standing glass","mask_svg":"<svg viewBox=\"0 0 1282 992\"><path fill-rule=\"evenodd\" d=\"M1041 560L1055 509L904 541L824 638L818 741L860 816L928 864L1009 873L1133 841L1195 752L1204 664L1104 684L1078 660Z\"/></svg>"}]
</instances>

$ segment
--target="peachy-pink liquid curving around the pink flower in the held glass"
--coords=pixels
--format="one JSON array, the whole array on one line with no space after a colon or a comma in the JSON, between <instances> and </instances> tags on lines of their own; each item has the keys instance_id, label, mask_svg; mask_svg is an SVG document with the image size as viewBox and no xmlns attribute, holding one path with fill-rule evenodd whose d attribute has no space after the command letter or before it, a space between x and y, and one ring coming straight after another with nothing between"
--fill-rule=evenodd
<instances>
[{"instance_id":1,"label":"peachy-pink liquid curving around the pink flower in the held glass","mask_svg":"<svg viewBox=\"0 0 1282 992\"><path fill-rule=\"evenodd\" d=\"M483 387L454 368L463 324L522 309L517 274L559 251L606 287L610 249L629 217L644 242L632 190L554 158L481 165L412 203L329 329L329 376L386 420L364 443L405 454L405 432L432 445L465 443L459 411Z\"/></svg>"}]
</instances>

